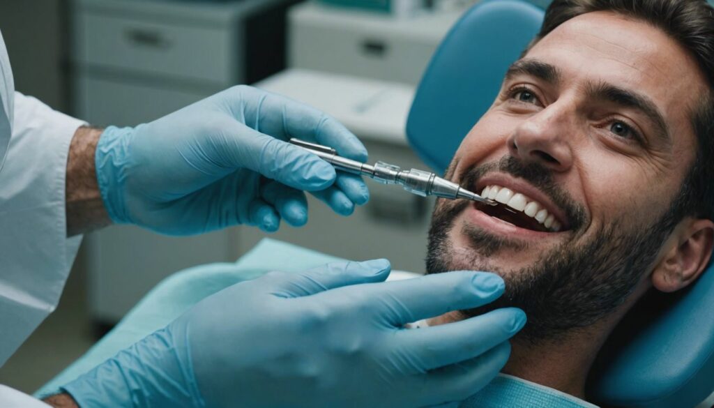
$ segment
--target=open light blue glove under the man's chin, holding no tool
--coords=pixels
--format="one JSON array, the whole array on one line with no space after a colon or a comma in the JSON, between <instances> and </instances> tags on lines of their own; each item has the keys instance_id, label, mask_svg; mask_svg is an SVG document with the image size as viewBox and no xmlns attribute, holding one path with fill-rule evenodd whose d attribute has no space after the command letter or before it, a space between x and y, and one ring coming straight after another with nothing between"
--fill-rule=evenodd
<instances>
[{"instance_id":1,"label":"open light blue glove under the man's chin, holding no tool","mask_svg":"<svg viewBox=\"0 0 714 408\"><path fill-rule=\"evenodd\" d=\"M380 282L388 271L386 260L338 262L241 282L63 389L81 408L398 408L458 402L488 384L525 323L520 309L403 325L491 302L503 280Z\"/></svg>"}]
</instances>

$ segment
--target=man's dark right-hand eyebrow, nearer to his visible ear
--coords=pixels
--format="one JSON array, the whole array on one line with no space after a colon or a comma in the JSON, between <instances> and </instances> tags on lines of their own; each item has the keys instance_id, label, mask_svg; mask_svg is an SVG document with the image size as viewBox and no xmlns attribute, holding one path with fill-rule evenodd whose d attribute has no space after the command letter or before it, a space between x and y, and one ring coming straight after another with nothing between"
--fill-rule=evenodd
<instances>
[{"instance_id":1,"label":"man's dark right-hand eyebrow, nearer to his visible ear","mask_svg":"<svg viewBox=\"0 0 714 408\"><path fill-rule=\"evenodd\" d=\"M588 96L642 112L655 125L655 134L665 143L670 144L672 142L667 121L665 121L657 105L648 96L605 82L589 84Z\"/></svg>"}]
</instances>

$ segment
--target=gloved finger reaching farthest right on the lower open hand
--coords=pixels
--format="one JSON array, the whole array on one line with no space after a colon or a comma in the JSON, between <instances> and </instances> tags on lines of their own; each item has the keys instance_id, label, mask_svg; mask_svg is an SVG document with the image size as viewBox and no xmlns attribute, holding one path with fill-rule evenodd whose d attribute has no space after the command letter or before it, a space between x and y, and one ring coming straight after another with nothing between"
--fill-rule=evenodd
<instances>
[{"instance_id":1,"label":"gloved finger reaching farthest right on the lower open hand","mask_svg":"<svg viewBox=\"0 0 714 408\"><path fill-rule=\"evenodd\" d=\"M460 322L401 330L396 339L421 369L432 370L476 358L508 341L524 324L526 314L509 307Z\"/></svg>"}]
</instances>

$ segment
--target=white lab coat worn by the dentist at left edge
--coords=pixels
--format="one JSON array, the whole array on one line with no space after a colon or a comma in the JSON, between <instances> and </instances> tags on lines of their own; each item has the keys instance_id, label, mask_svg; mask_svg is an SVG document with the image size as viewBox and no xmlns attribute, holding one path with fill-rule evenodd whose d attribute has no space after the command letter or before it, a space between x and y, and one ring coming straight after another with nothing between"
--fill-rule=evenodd
<instances>
[{"instance_id":1,"label":"white lab coat worn by the dentist at left edge","mask_svg":"<svg viewBox=\"0 0 714 408\"><path fill-rule=\"evenodd\" d=\"M69 143L83 124L14 91L0 34L0 365L59 302L81 237L66 238ZM8 131L11 131L8 134ZM0 386L0 407L46 407Z\"/></svg>"}]
</instances>

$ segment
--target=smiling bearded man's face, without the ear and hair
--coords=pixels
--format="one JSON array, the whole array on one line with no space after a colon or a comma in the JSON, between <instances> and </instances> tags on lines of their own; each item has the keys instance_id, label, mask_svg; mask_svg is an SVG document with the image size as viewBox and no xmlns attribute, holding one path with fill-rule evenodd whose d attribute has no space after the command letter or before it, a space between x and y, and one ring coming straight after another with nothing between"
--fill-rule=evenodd
<instances>
[{"instance_id":1,"label":"smiling bearded man's face, without the ear and hair","mask_svg":"<svg viewBox=\"0 0 714 408\"><path fill-rule=\"evenodd\" d=\"M512 66L447 172L516 214L439 201L428 269L500 273L536 325L599 319L661 255L707 87L653 26L610 12L565 22Z\"/></svg>"}]
</instances>

